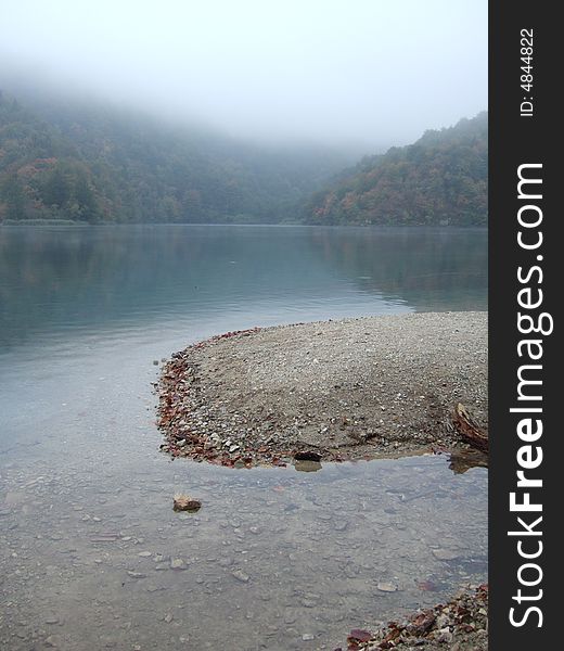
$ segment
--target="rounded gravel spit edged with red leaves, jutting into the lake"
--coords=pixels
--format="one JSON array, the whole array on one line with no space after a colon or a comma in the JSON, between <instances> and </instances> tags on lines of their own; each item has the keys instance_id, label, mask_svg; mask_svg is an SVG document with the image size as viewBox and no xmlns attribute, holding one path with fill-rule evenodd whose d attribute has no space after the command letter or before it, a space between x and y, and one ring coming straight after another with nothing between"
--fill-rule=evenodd
<instances>
[{"instance_id":1,"label":"rounded gravel spit edged with red leaves, jutting into the lake","mask_svg":"<svg viewBox=\"0 0 564 651\"><path fill-rule=\"evenodd\" d=\"M457 403L487 430L487 312L227 333L175 354L158 394L163 448L213 463L451 449Z\"/></svg>"}]
</instances>

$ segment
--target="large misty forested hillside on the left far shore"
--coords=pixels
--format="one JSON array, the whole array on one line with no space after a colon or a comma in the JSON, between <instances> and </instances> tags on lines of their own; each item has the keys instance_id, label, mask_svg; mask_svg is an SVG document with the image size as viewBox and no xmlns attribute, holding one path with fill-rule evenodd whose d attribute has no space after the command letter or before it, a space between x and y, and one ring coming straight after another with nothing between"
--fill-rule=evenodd
<instances>
[{"instance_id":1,"label":"large misty forested hillside on the left far shore","mask_svg":"<svg viewBox=\"0 0 564 651\"><path fill-rule=\"evenodd\" d=\"M0 91L0 221L279 222L347 164Z\"/></svg>"}]
</instances>

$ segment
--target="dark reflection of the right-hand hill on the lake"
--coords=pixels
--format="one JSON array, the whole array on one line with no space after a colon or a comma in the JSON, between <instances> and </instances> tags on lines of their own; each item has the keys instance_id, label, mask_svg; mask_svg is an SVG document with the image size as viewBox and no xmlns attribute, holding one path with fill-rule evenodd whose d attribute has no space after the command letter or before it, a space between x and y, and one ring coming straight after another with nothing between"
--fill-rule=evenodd
<instances>
[{"instance_id":1,"label":"dark reflection of the right-hand hill on the lake","mask_svg":"<svg viewBox=\"0 0 564 651\"><path fill-rule=\"evenodd\" d=\"M401 297L414 310L487 309L483 229L320 229L323 259L367 292Z\"/></svg>"}]
</instances>

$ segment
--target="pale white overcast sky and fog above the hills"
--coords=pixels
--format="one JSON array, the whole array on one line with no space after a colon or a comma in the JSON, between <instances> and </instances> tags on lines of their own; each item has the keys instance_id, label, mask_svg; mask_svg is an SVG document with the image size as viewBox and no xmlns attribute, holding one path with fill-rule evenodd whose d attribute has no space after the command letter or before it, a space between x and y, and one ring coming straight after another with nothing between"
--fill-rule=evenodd
<instances>
[{"instance_id":1,"label":"pale white overcast sky and fog above the hills","mask_svg":"<svg viewBox=\"0 0 564 651\"><path fill-rule=\"evenodd\" d=\"M245 138L403 144L486 108L487 0L0 0L0 60Z\"/></svg>"}]
</instances>

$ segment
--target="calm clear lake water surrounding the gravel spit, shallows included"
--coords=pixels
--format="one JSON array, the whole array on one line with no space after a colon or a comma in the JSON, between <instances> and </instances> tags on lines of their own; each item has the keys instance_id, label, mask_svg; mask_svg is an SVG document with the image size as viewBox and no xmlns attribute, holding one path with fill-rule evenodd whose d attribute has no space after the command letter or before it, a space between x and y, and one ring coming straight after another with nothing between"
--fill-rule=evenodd
<instances>
[{"instance_id":1,"label":"calm clear lake water surrounding the gravel spit, shallows included","mask_svg":"<svg viewBox=\"0 0 564 651\"><path fill-rule=\"evenodd\" d=\"M0 647L333 649L482 580L483 469L171 462L151 383L227 330L486 309L486 237L1 228ZM177 490L203 509L174 513Z\"/></svg>"}]
</instances>

